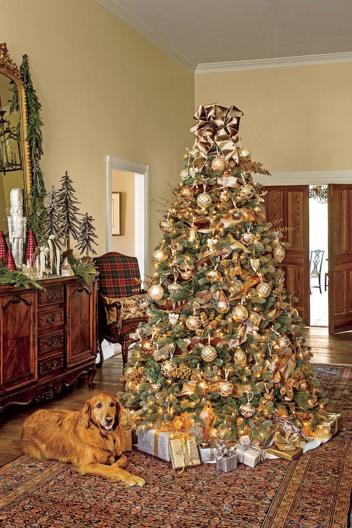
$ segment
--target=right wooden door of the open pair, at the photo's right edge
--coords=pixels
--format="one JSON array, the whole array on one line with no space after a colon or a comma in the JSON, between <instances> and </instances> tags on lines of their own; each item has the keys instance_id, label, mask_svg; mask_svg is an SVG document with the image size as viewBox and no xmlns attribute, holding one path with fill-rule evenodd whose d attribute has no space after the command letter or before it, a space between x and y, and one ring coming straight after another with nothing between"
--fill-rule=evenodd
<instances>
[{"instance_id":1,"label":"right wooden door of the open pair, at the photo's right edge","mask_svg":"<svg viewBox=\"0 0 352 528\"><path fill-rule=\"evenodd\" d=\"M352 330L352 185L328 185L329 334Z\"/></svg>"}]
</instances>

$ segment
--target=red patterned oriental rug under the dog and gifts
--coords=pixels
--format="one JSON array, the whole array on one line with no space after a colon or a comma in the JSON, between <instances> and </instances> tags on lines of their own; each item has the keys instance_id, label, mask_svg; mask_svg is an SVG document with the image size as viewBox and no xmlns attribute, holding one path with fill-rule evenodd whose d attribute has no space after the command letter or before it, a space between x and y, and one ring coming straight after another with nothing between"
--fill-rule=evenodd
<instances>
[{"instance_id":1,"label":"red patterned oriental rug under the dog and gifts","mask_svg":"<svg viewBox=\"0 0 352 528\"><path fill-rule=\"evenodd\" d=\"M17 458L0 469L4 528L340 528L349 526L352 367L318 365L343 429L289 463L264 460L221 473L213 464L178 476L171 463L134 450L127 469L146 479L125 488L69 464Z\"/></svg>"}]
</instances>

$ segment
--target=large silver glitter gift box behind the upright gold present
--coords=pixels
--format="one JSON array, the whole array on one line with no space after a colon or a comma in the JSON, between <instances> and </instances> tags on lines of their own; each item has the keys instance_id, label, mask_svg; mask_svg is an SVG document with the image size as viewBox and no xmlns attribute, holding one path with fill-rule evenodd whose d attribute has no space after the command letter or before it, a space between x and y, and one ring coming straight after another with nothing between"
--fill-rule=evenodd
<instances>
[{"instance_id":1,"label":"large silver glitter gift box behind the upright gold present","mask_svg":"<svg viewBox=\"0 0 352 528\"><path fill-rule=\"evenodd\" d=\"M188 427L187 432L191 433L196 441L201 441L203 437L202 427ZM169 436L172 435L173 431L163 431L161 429L149 429L148 431L138 435L138 449L154 455L168 462L171 460L170 450L168 446Z\"/></svg>"}]
</instances>

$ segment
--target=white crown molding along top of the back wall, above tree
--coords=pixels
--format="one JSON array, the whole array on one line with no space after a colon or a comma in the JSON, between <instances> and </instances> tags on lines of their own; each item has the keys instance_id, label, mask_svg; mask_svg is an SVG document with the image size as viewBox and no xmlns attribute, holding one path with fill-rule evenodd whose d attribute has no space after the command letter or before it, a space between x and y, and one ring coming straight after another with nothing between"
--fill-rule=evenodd
<instances>
[{"instance_id":1,"label":"white crown molding along top of the back wall, above tree","mask_svg":"<svg viewBox=\"0 0 352 528\"><path fill-rule=\"evenodd\" d=\"M258 59L250 61L208 62L198 64L195 73L220 73L224 71L282 68L286 66L305 66L309 64L327 64L331 62L350 61L352 61L352 52L326 53L323 55L301 55L298 57L279 57L274 59Z\"/></svg>"}]
</instances>

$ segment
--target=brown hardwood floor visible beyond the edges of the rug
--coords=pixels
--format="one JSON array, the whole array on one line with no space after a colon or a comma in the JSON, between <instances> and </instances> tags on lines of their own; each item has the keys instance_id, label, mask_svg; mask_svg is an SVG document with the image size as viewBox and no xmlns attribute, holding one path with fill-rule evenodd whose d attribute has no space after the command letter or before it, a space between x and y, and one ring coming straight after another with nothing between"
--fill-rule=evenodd
<instances>
[{"instance_id":1,"label":"brown hardwood floor visible beyond the edges of the rug","mask_svg":"<svg viewBox=\"0 0 352 528\"><path fill-rule=\"evenodd\" d=\"M306 341L312 348L312 363L352 364L352 332L329 336L327 328L309 327L306 329ZM97 383L95 390L103 390L111 394L123 390L121 375L121 356L114 356L104 361L103 369L97 370L94 379ZM46 403L45 406L48 409L53 407L80 409L91 394L87 388L87 375L82 375L61 398ZM38 406L34 404L28 407L11 406L0 414L0 466L22 454L20 446L22 423L37 408Z\"/></svg>"}]
</instances>

